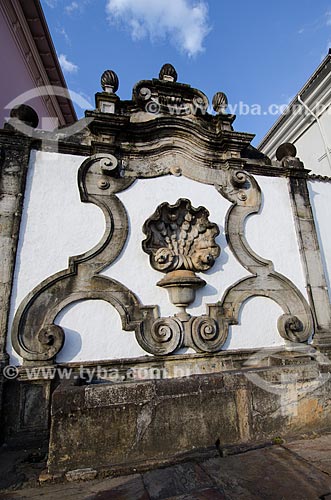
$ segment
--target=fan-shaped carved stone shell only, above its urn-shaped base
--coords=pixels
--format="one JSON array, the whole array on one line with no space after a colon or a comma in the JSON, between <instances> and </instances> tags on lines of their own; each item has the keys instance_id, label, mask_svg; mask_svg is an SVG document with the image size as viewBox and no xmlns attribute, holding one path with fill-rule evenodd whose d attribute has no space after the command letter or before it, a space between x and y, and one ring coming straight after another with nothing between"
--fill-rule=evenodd
<instances>
[{"instance_id":1,"label":"fan-shaped carved stone shell only, above its urn-shaped base","mask_svg":"<svg viewBox=\"0 0 331 500\"><path fill-rule=\"evenodd\" d=\"M215 242L217 224L208 219L204 207L194 208L187 199L174 205L162 203L145 222L143 250L157 271L207 271L220 254Z\"/></svg>"}]
</instances>

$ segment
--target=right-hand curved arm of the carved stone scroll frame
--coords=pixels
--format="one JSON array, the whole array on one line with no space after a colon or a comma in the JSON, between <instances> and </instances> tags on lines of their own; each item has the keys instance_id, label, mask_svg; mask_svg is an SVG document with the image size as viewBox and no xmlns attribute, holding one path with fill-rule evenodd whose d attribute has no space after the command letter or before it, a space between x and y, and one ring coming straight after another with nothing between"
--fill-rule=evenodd
<instances>
[{"instance_id":1,"label":"right-hand curved arm of the carved stone scroll frame","mask_svg":"<svg viewBox=\"0 0 331 500\"><path fill-rule=\"evenodd\" d=\"M268 297L284 311L277 324L280 335L291 342L306 342L314 328L307 301L288 278L274 270L271 261L251 249L245 238L246 218L258 213L261 206L261 191L256 180L244 171L229 170L216 188L232 202L225 223L229 246L237 260L252 273L225 292L221 302L225 317L230 324L237 324L246 300L254 296Z\"/></svg>"}]
</instances>

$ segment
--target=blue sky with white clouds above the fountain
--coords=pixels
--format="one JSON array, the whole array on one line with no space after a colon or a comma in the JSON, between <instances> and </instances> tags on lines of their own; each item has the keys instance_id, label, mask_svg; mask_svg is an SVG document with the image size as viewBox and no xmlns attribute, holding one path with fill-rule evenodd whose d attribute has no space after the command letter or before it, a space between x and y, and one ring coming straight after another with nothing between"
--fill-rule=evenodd
<instances>
[{"instance_id":1,"label":"blue sky with white clouds above the fountain","mask_svg":"<svg viewBox=\"0 0 331 500\"><path fill-rule=\"evenodd\" d=\"M92 105L105 69L117 94L172 63L178 81L210 102L227 94L236 130L257 144L277 109L300 90L331 47L331 0L42 0L70 90ZM240 102L260 114L245 114ZM235 107L237 106L237 109ZM83 110L76 106L79 117Z\"/></svg>"}]
</instances>

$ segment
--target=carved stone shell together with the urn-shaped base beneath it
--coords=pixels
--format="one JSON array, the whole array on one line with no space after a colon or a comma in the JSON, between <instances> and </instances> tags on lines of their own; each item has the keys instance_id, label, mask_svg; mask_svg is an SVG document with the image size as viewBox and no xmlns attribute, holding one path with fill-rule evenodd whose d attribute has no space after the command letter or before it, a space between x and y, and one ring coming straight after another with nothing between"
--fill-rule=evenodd
<instances>
[{"instance_id":1,"label":"carved stone shell together with the urn-shaped base beneath it","mask_svg":"<svg viewBox=\"0 0 331 500\"><path fill-rule=\"evenodd\" d=\"M194 208L181 198L174 205L162 203L143 227L147 237L142 246L151 266L166 273L157 285L168 290L171 302L182 312L177 316L184 319L195 290L206 284L195 273L210 269L220 254L215 242L219 229L208 216L206 208Z\"/></svg>"}]
</instances>

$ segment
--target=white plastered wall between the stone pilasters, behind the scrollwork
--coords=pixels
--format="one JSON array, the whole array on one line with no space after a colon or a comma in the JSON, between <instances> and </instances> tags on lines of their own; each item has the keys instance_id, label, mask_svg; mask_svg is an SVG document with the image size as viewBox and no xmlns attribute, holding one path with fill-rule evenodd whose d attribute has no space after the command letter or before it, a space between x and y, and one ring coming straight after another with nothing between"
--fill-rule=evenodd
<instances>
[{"instance_id":1,"label":"white plastered wall between the stone pilasters, behind the scrollwork","mask_svg":"<svg viewBox=\"0 0 331 500\"><path fill-rule=\"evenodd\" d=\"M104 231L101 210L81 203L77 172L85 158L58 153L35 152L31 156L26 196L15 268L10 323L20 302L34 286L48 276L65 269L68 257L92 248ZM291 279L304 293L305 284L289 202L287 181L256 176L263 193L261 213L251 216L246 236L252 249L274 262L276 271ZM175 312L167 292L156 286L163 274L151 268L142 251L142 226L156 207L178 198L189 198L192 205L203 205L210 220L220 226L217 241L221 256L204 274L207 286L197 292L189 309L191 314L205 312L205 304L222 298L226 288L247 276L227 246L224 221L230 203L212 186L184 177L165 176L137 180L119 193L130 221L129 238L119 258L103 271L128 286L144 304L157 304L162 315ZM230 328L226 349L282 345L277 331L280 307L266 298L249 300L242 309L240 325ZM100 301L82 301L68 306L56 320L66 334L58 361L88 361L130 358L145 355L133 332L124 332L118 313ZM8 340L12 362L20 362Z\"/></svg>"}]
</instances>

